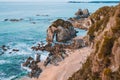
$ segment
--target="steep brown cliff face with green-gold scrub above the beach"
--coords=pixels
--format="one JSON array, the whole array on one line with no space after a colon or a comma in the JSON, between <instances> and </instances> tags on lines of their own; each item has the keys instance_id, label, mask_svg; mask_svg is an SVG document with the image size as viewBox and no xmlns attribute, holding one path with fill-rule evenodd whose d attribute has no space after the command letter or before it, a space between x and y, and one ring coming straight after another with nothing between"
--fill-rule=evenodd
<instances>
[{"instance_id":1,"label":"steep brown cliff face with green-gold scrub above the beach","mask_svg":"<svg viewBox=\"0 0 120 80\"><path fill-rule=\"evenodd\" d=\"M93 13L88 30L91 56L69 80L120 80L120 5Z\"/></svg>"}]
</instances>

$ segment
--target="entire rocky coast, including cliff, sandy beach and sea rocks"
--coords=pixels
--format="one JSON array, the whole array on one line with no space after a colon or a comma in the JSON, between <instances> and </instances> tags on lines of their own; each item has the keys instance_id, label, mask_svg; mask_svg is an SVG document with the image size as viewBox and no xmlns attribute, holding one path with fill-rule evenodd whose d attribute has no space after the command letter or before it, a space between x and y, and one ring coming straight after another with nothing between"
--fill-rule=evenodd
<instances>
[{"instance_id":1,"label":"entire rocky coast, including cliff, sandy beach and sea rocks","mask_svg":"<svg viewBox=\"0 0 120 80\"><path fill-rule=\"evenodd\" d=\"M29 70L30 78L22 80L120 79L120 5L105 6L93 14L88 9L79 9L75 15L68 20L54 21L47 29L47 43L31 47L36 51L35 58L28 57L21 65ZM88 30L88 33L84 37L77 36L75 28ZM1 49L6 51L9 46L3 45ZM37 51L47 51L46 60L41 61Z\"/></svg>"}]
</instances>

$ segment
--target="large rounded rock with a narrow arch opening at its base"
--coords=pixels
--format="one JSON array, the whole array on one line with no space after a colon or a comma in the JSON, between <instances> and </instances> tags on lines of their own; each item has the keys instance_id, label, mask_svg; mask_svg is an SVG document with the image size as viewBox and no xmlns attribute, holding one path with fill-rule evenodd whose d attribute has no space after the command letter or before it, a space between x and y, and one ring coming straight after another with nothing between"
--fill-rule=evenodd
<instances>
[{"instance_id":1,"label":"large rounded rock with a narrow arch opening at its base","mask_svg":"<svg viewBox=\"0 0 120 80\"><path fill-rule=\"evenodd\" d=\"M54 38L58 42L66 42L76 36L73 25L62 19L58 19L52 23L47 29L47 41L53 42Z\"/></svg>"}]
</instances>

